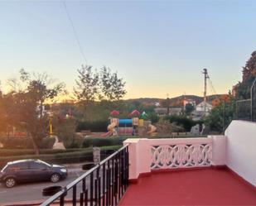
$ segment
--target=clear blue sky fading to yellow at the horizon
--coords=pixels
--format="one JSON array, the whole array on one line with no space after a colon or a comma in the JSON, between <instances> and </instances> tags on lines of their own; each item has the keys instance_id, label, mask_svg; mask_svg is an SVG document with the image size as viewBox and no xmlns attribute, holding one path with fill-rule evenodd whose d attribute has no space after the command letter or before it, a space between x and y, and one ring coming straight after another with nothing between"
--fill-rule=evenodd
<instances>
[{"instance_id":1,"label":"clear blue sky fading to yellow at the horizon","mask_svg":"<svg viewBox=\"0 0 256 206\"><path fill-rule=\"evenodd\" d=\"M106 65L126 81L125 98L203 95L207 68L228 93L255 50L256 1L0 0L0 80L46 72L72 92L81 65ZM208 94L214 94L208 88Z\"/></svg>"}]
</instances>

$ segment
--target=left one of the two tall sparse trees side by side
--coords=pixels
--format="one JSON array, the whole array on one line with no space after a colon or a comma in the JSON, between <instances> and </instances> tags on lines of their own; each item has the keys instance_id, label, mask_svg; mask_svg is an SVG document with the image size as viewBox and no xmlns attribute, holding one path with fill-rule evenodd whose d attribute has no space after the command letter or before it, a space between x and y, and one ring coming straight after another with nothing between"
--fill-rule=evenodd
<instances>
[{"instance_id":1,"label":"left one of the two tall sparse trees side by side","mask_svg":"<svg viewBox=\"0 0 256 206\"><path fill-rule=\"evenodd\" d=\"M92 66L82 65L81 69L77 69L79 75L75 80L76 87L74 89L75 97L86 103L94 101L99 97L99 74L92 71Z\"/></svg>"}]
</instances>

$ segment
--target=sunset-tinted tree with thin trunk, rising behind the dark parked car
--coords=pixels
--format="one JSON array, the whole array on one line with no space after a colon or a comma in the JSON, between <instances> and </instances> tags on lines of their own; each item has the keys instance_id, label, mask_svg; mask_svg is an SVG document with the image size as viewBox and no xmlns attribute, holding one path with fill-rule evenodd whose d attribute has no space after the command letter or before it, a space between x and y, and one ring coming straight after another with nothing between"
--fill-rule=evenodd
<instances>
[{"instance_id":1,"label":"sunset-tinted tree with thin trunk, rising behind the dark parked car","mask_svg":"<svg viewBox=\"0 0 256 206\"><path fill-rule=\"evenodd\" d=\"M43 104L65 92L65 84L54 84L46 73L30 74L24 69L20 70L20 82L12 79L12 84L14 87L9 93L12 113L15 114L12 119L16 126L27 130L35 152L39 154L41 139L47 134L47 115L43 113ZM21 86L17 89L16 85Z\"/></svg>"}]
</instances>

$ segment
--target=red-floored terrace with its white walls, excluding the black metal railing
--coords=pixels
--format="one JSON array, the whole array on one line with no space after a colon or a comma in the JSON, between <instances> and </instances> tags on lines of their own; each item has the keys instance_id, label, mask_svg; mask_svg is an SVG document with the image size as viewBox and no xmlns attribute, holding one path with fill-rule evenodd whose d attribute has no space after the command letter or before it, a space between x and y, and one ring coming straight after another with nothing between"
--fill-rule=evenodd
<instances>
[{"instance_id":1,"label":"red-floored terrace with its white walls, excluding the black metal railing","mask_svg":"<svg viewBox=\"0 0 256 206\"><path fill-rule=\"evenodd\" d=\"M256 123L225 136L127 140L130 184L119 205L256 205Z\"/></svg>"}]
</instances>

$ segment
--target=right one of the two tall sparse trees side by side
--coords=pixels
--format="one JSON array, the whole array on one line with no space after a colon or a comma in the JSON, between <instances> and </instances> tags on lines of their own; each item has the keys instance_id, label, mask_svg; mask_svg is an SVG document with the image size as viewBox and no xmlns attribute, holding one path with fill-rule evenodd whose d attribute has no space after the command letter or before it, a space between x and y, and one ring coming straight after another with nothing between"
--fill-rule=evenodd
<instances>
[{"instance_id":1,"label":"right one of the two tall sparse trees side by side","mask_svg":"<svg viewBox=\"0 0 256 206\"><path fill-rule=\"evenodd\" d=\"M125 82L122 78L118 78L116 72L112 73L107 67L103 67L100 73L101 89L103 93L103 98L110 101L116 101L126 94L124 89Z\"/></svg>"}]
</instances>

